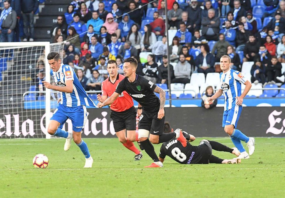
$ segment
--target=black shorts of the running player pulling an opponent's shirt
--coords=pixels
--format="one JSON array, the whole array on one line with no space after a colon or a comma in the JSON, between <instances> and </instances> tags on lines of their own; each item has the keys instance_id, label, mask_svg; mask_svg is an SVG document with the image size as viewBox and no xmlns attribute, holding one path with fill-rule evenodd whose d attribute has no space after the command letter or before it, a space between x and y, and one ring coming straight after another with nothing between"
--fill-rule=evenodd
<instances>
[{"instance_id":1,"label":"black shorts of the running player pulling an opponent's shirt","mask_svg":"<svg viewBox=\"0 0 285 198\"><path fill-rule=\"evenodd\" d=\"M158 119L157 113L143 112L140 116L138 129L145 129L147 131L150 131L150 134L153 135L162 135L165 116L162 119Z\"/></svg>"}]
</instances>

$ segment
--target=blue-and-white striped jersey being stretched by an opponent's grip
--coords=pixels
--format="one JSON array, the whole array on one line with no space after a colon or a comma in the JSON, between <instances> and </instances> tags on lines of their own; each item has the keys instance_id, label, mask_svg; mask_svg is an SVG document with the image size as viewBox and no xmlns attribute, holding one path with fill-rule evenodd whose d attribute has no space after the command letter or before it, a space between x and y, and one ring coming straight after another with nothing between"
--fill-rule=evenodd
<instances>
[{"instance_id":1,"label":"blue-and-white striped jersey being stretched by an opponent's grip","mask_svg":"<svg viewBox=\"0 0 285 198\"><path fill-rule=\"evenodd\" d=\"M57 72L53 72L53 70L51 70L50 74L56 85L59 87L65 87L67 80L73 80L72 93L60 92L60 104L67 107L76 107L81 105L95 106L82 87L72 67L69 65L61 65Z\"/></svg>"}]
</instances>

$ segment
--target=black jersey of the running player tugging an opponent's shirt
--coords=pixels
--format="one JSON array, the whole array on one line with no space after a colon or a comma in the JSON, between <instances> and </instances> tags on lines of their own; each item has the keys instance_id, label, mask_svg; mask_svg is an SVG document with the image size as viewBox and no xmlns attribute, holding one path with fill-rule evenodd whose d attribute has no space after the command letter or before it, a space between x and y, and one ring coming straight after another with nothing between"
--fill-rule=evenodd
<instances>
[{"instance_id":1,"label":"black jersey of the running player tugging an opponent's shirt","mask_svg":"<svg viewBox=\"0 0 285 198\"><path fill-rule=\"evenodd\" d=\"M160 107L160 100L153 92L155 88L156 85L153 82L136 74L134 82L130 82L128 78L119 82L115 92L121 94L123 91L126 91L135 101L142 105L144 112L155 113L158 112Z\"/></svg>"}]
</instances>

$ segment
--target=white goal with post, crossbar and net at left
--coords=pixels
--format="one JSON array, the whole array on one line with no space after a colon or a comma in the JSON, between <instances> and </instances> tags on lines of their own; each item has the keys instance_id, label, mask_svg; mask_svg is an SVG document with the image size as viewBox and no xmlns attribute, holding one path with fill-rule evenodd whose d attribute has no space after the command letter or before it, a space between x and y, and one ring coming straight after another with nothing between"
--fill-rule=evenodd
<instances>
[{"instance_id":1,"label":"white goal with post, crossbar and net at left","mask_svg":"<svg viewBox=\"0 0 285 198\"><path fill-rule=\"evenodd\" d=\"M64 44L0 43L0 138L50 138L46 126L58 94L45 89L51 82L46 56ZM46 97L48 96L48 97Z\"/></svg>"}]
</instances>

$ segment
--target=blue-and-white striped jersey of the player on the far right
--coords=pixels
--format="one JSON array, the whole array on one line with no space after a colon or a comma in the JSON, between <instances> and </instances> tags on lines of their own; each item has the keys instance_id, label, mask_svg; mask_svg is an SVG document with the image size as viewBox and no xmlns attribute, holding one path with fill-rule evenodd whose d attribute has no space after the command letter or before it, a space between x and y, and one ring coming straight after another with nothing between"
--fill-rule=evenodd
<instances>
[{"instance_id":1,"label":"blue-and-white striped jersey of the player on the far right","mask_svg":"<svg viewBox=\"0 0 285 198\"><path fill-rule=\"evenodd\" d=\"M226 73L220 74L220 89L223 90L225 97L224 110L234 108L236 105L236 98L242 94L242 84L247 79L237 70L229 69Z\"/></svg>"}]
</instances>

